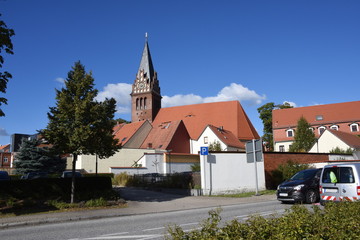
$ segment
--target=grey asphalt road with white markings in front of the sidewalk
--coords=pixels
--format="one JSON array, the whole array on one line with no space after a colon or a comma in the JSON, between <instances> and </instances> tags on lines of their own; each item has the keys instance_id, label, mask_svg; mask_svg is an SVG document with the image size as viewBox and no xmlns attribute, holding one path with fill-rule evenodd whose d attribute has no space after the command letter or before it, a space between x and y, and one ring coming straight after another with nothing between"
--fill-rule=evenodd
<instances>
[{"instance_id":1,"label":"grey asphalt road with white markings in front of the sidewalk","mask_svg":"<svg viewBox=\"0 0 360 240\"><path fill-rule=\"evenodd\" d=\"M222 222L232 219L243 221L253 214L281 214L288 207L290 206L273 200L222 206ZM1 239L6 240L164 239L168 226L177 224L184 230L198 228L213 209L215 208L198 208L9 228L1 230L0 235Z\"/></svg>"}]
</instances>

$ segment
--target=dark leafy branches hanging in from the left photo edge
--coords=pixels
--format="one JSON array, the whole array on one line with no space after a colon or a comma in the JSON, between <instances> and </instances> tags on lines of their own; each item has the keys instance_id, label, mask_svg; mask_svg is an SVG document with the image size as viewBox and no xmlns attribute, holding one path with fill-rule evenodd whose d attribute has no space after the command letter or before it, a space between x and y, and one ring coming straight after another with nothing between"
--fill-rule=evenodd
<instances>
[{"instance_id":1,"label":"dark leafy branches hanging in from the left photo edge","mask_svg":"<svg viewBox=\"0 0 360 240\"><path fill-rule=\"evenodd\" d=\"M0 20L0 69L4 64L4 57L2 56L2 51L5 51L5 53L7 54L14 54L13 44L11 42L11 37L14 35L14 30L9 29L6 26L5 22ZM12 78L12 76L7 71L0 72L0 93L6 93L7 83L10 78ZM2 104L7 104L7 99L4 97L0 97L0 106ZM5 113L0 108L0 117L3 116L5 116Z\"/></svg>"}]
</instances>

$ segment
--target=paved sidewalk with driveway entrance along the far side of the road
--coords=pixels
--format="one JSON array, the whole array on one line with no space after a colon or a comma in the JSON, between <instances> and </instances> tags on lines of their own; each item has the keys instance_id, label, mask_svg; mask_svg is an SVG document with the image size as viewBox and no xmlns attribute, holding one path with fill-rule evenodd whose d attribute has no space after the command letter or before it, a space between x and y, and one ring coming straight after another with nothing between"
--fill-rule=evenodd
<instances>
[{"instance_id":1,"label":"paved sidewalk with driveway entrance along the far side of the road","mask_svg":"<svg viewBox=\"0 0 360 240\"><path fill-rule=\"evenodd\" d=\"M124 198L127 202L128 206L126 208L108 208L53 213L50 212L21 215L16 217L2 217L0 218L0 229L43 223L120 217L276 200L275 195L261 195L246 198L226 198L182 196L162 192L146 191L137 188L119 188L118 191L120 192L121 197Z\"/></svg>"}]
</instances>

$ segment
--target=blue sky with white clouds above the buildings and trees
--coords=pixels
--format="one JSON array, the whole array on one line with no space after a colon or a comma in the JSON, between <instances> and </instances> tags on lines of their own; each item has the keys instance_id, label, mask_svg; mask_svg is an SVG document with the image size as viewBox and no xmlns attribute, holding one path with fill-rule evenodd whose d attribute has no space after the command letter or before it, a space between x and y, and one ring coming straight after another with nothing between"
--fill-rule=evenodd
<instances>
[{"instance_id":1,"label":"blue sky with white clouds above the buildings and trees","mask_svg":"<svg viewBox=\"0 0 360 240\"><path fill-rule=\"evenodd\" d=\"M78 60L130 120L145 32L164 107L239 100L262 134L265 103L359 100L358 0L0 0L0 13L16 33L0 145L46 127Z\"/></svg>"}]
</instances>

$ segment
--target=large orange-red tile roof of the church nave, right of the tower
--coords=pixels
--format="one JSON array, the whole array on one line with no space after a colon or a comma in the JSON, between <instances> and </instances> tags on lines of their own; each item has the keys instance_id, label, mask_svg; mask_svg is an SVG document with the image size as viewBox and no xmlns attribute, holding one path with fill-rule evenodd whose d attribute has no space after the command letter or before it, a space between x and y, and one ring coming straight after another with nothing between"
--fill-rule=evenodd
<instances>
[{"instance_id":1,"label":"large orange-red tile roof of the church nave, right of the tower","mask_svg":"<svg viewBox=\"0 0 360 240\"><path fill-rule=\"evenodd\" d=\"M259 139L239 101L202 103L161 108L153 125L182 120L191 139L198 139L208 124L223 126L238 139Z\"/></svg>"}]
</instances>

